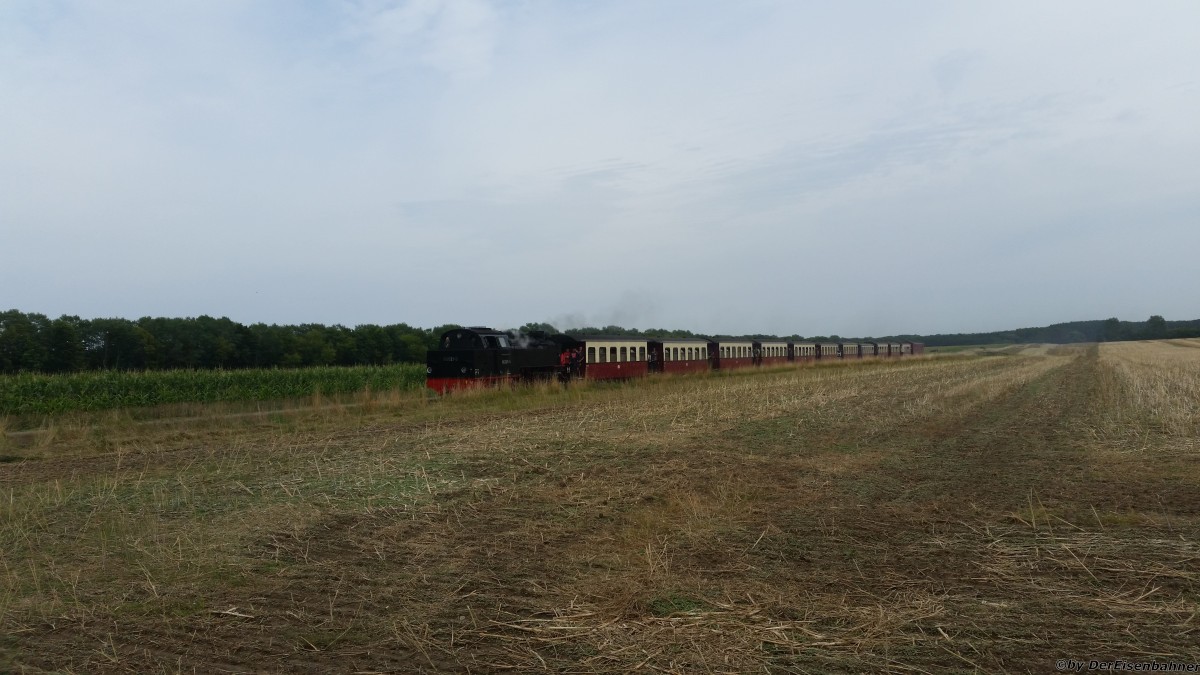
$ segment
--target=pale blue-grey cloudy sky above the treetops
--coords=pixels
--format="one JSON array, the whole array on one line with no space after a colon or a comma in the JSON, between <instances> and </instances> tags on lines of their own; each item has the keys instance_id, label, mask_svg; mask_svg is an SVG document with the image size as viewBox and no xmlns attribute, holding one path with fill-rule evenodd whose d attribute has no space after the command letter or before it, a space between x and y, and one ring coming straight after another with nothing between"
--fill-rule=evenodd
<instances>
[{"instance_id":1,"label":"pale blue-grey cloudy sky above the treetops","mask_svg":"<svg viewBox=\"0 0 1200 675\"><path fill-rule=\"evenodd\" d=\"M0 310L1200 318L1200 2L5 0Z\"/></svg>"}]
</instances>

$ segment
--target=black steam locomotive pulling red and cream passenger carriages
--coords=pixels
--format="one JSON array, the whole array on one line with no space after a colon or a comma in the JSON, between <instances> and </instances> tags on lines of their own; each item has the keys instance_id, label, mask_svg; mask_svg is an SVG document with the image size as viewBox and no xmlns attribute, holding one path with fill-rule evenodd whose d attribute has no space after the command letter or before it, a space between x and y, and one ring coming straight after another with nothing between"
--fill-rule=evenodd
<instances>
[{"instance_id":1,"label":"black steam locomotive pulling red and cream passenger carriages","mask_svg":"<svg viewBox=\"0 0 1200 675\"><path fill-rule=\"evenodd\" d=\"M605 335L522 335L491 328L456 328L428 353L426 386L454 389L578 377L629 380L655 372L706 372L821 359L920 354L920 342L788 342Z\"/></svg>"}]
</instances>

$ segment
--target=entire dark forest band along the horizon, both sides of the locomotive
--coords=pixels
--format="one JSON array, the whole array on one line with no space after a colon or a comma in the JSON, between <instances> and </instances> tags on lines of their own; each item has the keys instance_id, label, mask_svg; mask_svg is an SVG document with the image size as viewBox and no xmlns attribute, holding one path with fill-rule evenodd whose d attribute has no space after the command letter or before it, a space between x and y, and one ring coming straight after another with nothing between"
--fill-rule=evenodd
<instances>
[{"instance_id":1,"label":"entire dark forest band along the horizon, both sides of the locomotive","mask_svg":"<svg viewBox=\"0 0 1200 675\"><path fill-rule=\"evenodd\" d=\"M245 325L226 317L143 317L50 319L18 310L0 312L0 372L77 372L85 370L239 370L247 368L305 368L326 365L390 365L424 363L426 351L455 324L416 328L390 325L324 325L304 323ZM527 323L524 333L558 333L548 323ZM623 328L619 325L574 328L574 335L630 335L660 338L713 338L691 330ZM937 335L883 335L842 338L798 334L740 335L746 339L809 341L912 340L930 347L1032 342L1111 342L1200 336L1200 319L1165 321L1152 316L1144 322L1078 321L1042 328L995 333ZM715 338L732 338L718 335Z\"/></svg>"}]
</instances>

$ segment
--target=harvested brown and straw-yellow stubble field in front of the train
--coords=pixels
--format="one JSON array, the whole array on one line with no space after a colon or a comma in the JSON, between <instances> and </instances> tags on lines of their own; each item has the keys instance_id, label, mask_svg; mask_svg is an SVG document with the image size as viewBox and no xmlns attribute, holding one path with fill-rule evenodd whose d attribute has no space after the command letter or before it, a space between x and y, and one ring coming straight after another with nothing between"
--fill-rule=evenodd
<instances>
[{"instance_id":1,"label":"harvested brown and straw-yellow stubble field in front of the train","mask_svg":"<svg viewBox=\"0 0 1200 675\"><path fill-rule=\"evenodd\" d=\"M119 422L2 449L0 670L1200 662L1200 350Z\"/></svg>"}]
</instances>

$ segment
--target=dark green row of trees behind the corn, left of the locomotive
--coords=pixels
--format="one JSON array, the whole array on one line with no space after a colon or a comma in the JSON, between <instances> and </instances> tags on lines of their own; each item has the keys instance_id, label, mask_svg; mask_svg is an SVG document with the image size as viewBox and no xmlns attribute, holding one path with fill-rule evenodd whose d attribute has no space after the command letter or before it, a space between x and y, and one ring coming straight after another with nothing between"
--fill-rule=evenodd
<instances>
[{"instance_id":1,"label":"dark green row of trees behind the corn, left of the locomotive","mask_svg":"<svg viewBox=\"0 0 1200 675\"><path fill-rule=\"evenodd\" d=\"M0 372L421 363L450 328L455 325L244 325L210 316L50 319L8 310L0 313Z\"/></svg>"}]
</instances>

